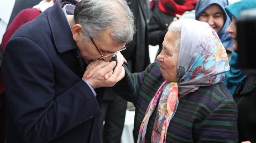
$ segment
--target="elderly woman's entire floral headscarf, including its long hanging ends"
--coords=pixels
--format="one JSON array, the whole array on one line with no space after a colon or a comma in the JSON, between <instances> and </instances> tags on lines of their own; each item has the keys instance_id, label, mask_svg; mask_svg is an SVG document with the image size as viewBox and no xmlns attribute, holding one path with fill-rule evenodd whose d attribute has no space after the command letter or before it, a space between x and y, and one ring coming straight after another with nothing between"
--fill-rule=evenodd
<instances>
[{"instance_id":1,"label":"elderly woman's entire floral headscarf, including its long hanging ends","mask_svg":"<svg viewBox=\"0 0 256 143\"><path fill-rule=\"evenodd\" d=\"M224 80L228 58L217 33L206 23L182 19L177 82L164 81L148 105L139 129L137 143L145 143L150 116L157 110L151 135L152 143L165 143L169 123L178 108L178 93L188 94L201 86ZM172 25L172 24L171 24ZM171 26L170 25L170 26Z\"/></svg>"}]
</instances>

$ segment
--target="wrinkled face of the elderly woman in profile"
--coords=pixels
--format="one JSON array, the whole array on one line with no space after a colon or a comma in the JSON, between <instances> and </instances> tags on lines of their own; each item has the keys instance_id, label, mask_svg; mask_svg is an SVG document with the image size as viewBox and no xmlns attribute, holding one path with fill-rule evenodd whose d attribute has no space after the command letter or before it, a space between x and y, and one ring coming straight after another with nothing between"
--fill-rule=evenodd
<instances>
[{"instance_id":1,"label":"wrinkled face of the elderly woman in profile","mask_svg":"<svg viewBox=\"0 0 256 143\"><path fill-rule=\"evenodd\" d=\"M173 32L168 31L163 40L163 50L157 56L156 60L160 62L160 71L163 78L167 81L177 81L177 64L178 64L178 50L175 50L175 41Z\"/></svg>"}]
</instances>

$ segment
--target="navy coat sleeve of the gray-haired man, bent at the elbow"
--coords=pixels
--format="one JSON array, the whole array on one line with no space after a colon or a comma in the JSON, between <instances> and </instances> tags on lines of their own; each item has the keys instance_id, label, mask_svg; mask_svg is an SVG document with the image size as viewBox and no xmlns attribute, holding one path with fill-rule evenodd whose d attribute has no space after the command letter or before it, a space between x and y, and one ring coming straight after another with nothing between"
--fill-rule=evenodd
<instances>
[{"instance_id":1,"label":"navy coat sleeve of the gray-haired man, bent at the elbow","mask_svg":"<svg viewBox=\"0 0 256 143\"><path fill-rule=\"evenodd\" d=\"M7 108L27 143L52 141L86 117L101 114L88 85L75 74L56 79L61 74L56 65L28 38L11 38L7 43L2 63ZM57 81L65 89L59 95Z\"/></svg>"}]
</instances>

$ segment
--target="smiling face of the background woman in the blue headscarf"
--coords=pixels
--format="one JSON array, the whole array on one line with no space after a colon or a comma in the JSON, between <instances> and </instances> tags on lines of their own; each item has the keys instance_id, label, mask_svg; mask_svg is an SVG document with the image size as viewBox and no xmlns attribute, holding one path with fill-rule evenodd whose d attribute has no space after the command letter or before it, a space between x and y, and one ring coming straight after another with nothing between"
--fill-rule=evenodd
<instances>
[{"instance_id":1,"label":"smiling face of the background woman in the blue headscarf","mask_svg":"<svg viewBox=\"0 0 256 143\"><path fill-rule=\"evenodd\" d=\"M218 33L224 25L224 12L219 5L212 4L198 17L198 20L207 22Z\"/></svg>"}]
</instances>

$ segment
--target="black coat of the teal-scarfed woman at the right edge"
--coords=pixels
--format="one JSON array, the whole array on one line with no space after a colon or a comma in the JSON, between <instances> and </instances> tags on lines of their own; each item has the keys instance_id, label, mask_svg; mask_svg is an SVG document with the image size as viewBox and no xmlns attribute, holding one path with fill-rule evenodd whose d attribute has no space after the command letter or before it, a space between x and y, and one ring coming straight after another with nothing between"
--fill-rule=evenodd
<instances>
[{"instance_id":1,"label":"black coat of the teal-scarfed woman at the right edge","mask_svg":"<svg viewBox=\"0 0 256 143\"><path fill-rule=\"evenodd\" d=\"M247 76L237 87L234 94L237 104L237 128L239 143L250 141L256 143L256 76Z\"/></svg>"}]
</instances>

